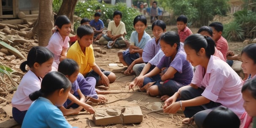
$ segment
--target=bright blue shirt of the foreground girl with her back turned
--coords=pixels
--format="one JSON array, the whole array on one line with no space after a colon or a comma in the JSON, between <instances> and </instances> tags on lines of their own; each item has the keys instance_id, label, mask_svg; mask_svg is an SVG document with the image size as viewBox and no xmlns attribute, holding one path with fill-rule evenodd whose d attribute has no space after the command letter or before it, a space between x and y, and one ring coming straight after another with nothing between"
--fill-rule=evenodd
<instances>
[{"instance_id":1,"label":"bright blue shirt of the foreground girl with her back turned","mask_svg":"<svg viewBox=\"0 0 256 128\"><path fill-rule=\"evenodd\" d=\"M49 99L39 97L27 110L22 128L72 128L72 126Z\"/></svg>"}]
</instances>

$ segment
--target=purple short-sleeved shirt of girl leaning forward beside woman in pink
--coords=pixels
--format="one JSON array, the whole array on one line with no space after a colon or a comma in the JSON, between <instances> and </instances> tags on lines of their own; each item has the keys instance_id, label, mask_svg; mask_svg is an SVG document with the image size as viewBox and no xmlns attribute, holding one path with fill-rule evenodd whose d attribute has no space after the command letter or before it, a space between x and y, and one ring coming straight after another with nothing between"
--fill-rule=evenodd
<instances>
[{"instance_id":1,"label":"purple short-sleeved shirt of girl leaning forward beside woman in pink","mask_svg":"<svg viewBox=\"0 0 256 128\"><path fill-rule=\"evenodd\" d=\"M193 67L186 60L186 53L181 47L178 49L174 59L164 55L156 67L159 69L162 69L163 67L173 67L177 72L174 74L172 80L182 83L183 85L190 84L194 74Z\"/></svg>"}]
</instances>

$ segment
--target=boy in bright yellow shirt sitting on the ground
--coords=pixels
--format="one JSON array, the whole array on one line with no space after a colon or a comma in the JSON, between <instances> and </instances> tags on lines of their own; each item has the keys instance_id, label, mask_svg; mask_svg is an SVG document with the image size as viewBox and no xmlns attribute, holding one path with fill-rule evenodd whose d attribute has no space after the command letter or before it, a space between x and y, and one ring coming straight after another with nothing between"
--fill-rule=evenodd
<instances>
[{"instance_id":1,"label":"boy in bright yellow shirt sitting on the ground","mask_svg":"<svg viewBox=\"0 0 256 128\"><path fill-rule=\"evenodd\" d=\"M87 77L94 77L96 85L109 86L116 76L113 72L100 69L95 63L93 53L93 29L88 25L81 25L76 30L77 41L68 50L67 58L73 59L79 65L79 72Z\"/></svg>"}]
</instances>

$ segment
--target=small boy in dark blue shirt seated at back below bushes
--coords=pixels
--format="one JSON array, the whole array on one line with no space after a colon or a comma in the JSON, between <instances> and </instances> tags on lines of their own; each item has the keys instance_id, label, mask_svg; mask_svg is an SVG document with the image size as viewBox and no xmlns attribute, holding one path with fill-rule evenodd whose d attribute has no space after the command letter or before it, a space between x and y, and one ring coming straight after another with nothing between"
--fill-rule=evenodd
<instances>
[{"instance_id":1,"label":"small boy in dark blue shirt seated at back below bushes","mask_svg":"<svg viewBox=\"0 0 256 128\"><path fill-rule=\"evenodd\" d=\"M96 12L94 14L94 19L90 21L91 27L95 28L93 41L99 40L101 38L102 34L105 34L105 32L103 32L104 23L100 18L101 18L101 13Z\"/></svg>"}]
</instances>

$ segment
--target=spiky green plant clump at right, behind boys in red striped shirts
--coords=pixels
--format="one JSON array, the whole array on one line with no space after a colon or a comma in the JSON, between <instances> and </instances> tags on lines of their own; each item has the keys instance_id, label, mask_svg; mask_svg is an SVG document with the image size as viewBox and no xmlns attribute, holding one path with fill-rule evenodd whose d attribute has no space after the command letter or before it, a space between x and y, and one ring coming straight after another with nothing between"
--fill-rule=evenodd
<instances>
[{"instance_id":1,"label":"spiky green plant clump at right, behind boys in red striped shirts","mask_svg":"<svg viewBox=\"0 0 256 128\"><path fill-rule=\"evenodd\" d=\"M242 25L237 21L232 21L223 26L223 37L229 41L242 41L244 40L244 30Z\"/></svg>"}]
</instances>

